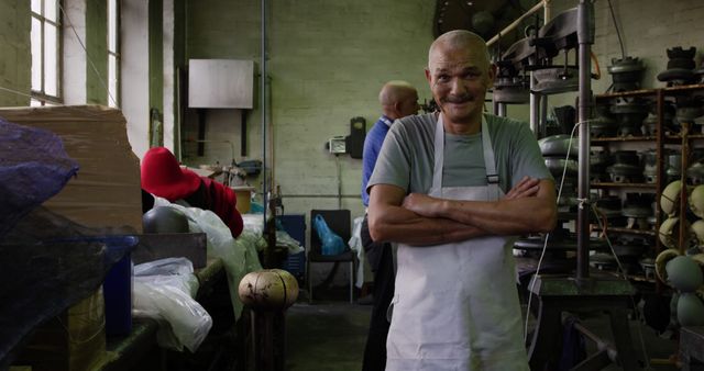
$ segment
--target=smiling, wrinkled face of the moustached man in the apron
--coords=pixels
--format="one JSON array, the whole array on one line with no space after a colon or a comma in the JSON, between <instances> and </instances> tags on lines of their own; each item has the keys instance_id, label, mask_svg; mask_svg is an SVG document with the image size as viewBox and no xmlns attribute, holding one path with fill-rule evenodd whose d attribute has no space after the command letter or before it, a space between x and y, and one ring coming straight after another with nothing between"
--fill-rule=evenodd
<instances>
[{"instance_id":1,"label":"smiling, wrinkled face of the moustached man in the apron","mask_svg":"<svg viewBox=\"0 0 704 371\"><path fill-rule=\"evenodd\" d=\"M494 66L483 52L439 45L430 55L426 78L432 97L452 124L481 124L484 95L495 77Z\"/></svg>"}]
</instances>

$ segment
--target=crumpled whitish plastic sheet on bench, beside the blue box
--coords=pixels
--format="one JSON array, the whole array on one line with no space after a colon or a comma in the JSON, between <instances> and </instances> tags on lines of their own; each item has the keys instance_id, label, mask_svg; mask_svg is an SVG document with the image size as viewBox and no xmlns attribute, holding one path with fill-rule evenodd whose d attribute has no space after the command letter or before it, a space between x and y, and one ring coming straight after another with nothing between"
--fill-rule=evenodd
<instances>
[{"instance_id":1,"label":"crumpled whitish plastic sheet on bench, beside the blue box","mask_svg":"<svg viewBox=\"0 0 704 371\"><path fill-rule=\"evenodd\" d=\"M157 319L160 346L195 352L212 327L212 318L193 297L198 279L186 258L167 258L134 267L135 317Z\"/></svg>"}]
</instances>

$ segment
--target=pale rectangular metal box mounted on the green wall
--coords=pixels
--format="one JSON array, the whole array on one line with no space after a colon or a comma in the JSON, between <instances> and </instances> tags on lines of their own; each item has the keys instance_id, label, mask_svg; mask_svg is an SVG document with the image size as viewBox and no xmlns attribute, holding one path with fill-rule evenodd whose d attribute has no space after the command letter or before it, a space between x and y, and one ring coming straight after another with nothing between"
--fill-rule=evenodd
<instances>
[{"instance_id":1,"label":"pale rectangular metal box mounted on the green wall","mask_svg":"<svg viewBox=\"0 0 704 371\"><path fill-rule=\"evenodd\" d=\"M194 109L252 109L254 61L190 59L188 106Z\"/></svg>"}]
</instances>

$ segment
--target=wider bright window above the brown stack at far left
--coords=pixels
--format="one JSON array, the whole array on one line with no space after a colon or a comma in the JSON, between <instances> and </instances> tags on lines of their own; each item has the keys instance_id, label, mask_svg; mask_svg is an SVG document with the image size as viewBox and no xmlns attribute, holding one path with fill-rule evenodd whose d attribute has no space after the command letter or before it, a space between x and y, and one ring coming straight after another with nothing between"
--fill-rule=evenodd
<instances>
[{"instance_id":1,"label":"wider bright window above the brown stack at far left","mask_svg":"<svg viewBox=\"0 0 704 371\"><path fill-rule=\"evenodd\" d=\"M61 103L59 0L32 0L32 100L31 105Z\"/></svg>"}]
</instances>

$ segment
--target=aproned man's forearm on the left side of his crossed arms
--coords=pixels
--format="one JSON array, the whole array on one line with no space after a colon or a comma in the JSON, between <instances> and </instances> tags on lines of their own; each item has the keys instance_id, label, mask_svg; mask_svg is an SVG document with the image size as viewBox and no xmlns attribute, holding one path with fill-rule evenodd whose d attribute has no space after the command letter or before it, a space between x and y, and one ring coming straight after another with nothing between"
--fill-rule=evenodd
<instances>
[{"instance_id":1,"label":"aproned man's forearm on the left side of his crossed arms","mask_svg":"<svg viewBox=\"0 0 704 371\"><path fill-rule=\"evenodd\" d=\"M426 217L400 206L370 212L370 234L375 241L432 246L486 235L477 227L442 217Z\"/></svg>"}]
</instances>

